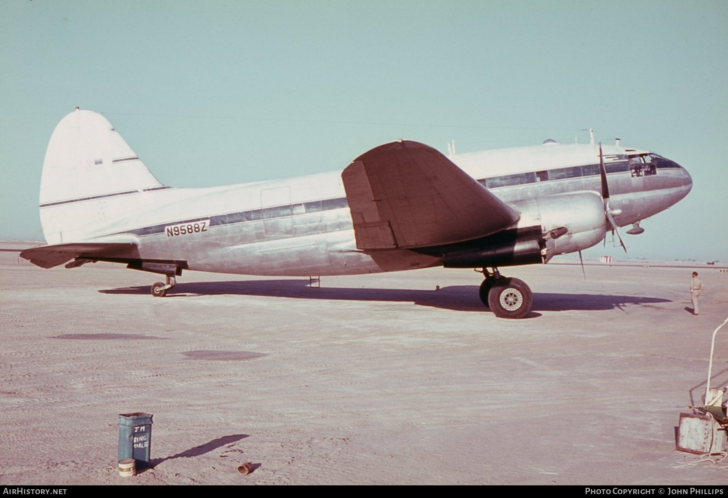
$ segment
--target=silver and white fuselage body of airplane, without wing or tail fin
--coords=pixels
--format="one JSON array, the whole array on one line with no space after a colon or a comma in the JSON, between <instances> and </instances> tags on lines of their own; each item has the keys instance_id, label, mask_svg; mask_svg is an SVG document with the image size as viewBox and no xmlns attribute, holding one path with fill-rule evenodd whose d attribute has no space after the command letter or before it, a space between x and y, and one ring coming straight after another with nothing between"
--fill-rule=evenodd
<instances>
[{"instance_id":1,"label":"silver and white fuselage body of airplane, without wing or tail fin","mask_svg":"<svg viewBox=\"0 0 728 498\"><path fill-rule=\"evenodd\" d=\"M642 170L631 167L628 157L639 154L652 164ZM683 167L646 154L604 148L611 208L621 210L614 217L619 226L669 208L692 187ZM589 145L550 144L450 159L520 211L533 199L601 189L598 149ZM63 205L54 208L55 216L63 216ZM69 206L77 208L75 202ZM564 202L563 215L568 218L573 208ZM104 199L99 209L106 223L80 226L59 242L134 242L145 260L184 261L186 269L234 274L362 274L443 264L438 256L413 250L357 250L339 172L205 189L128 192ZM539 221L524 213L518 226L529 224Z\"/></svg>"}]
</instances>

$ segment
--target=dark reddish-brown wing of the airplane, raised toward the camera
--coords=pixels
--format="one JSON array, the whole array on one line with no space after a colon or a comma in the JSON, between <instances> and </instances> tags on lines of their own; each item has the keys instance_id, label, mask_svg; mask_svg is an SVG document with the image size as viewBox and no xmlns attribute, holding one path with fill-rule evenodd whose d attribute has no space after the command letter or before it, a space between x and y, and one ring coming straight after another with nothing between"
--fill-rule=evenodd
<instances>
[{"instance_id":1,"label":"dark reddish-brown wing of the airplane, raised toward the camera","mask_svg":"<svg viewBox=\"0 0 728 498\"><path fill-rule=\"evenodd\" d=\"M494 234L519 213L439 151L423 143L385 143L365 152L341 178L357 248L423 248Z\"/></svg>"}]
</instances>

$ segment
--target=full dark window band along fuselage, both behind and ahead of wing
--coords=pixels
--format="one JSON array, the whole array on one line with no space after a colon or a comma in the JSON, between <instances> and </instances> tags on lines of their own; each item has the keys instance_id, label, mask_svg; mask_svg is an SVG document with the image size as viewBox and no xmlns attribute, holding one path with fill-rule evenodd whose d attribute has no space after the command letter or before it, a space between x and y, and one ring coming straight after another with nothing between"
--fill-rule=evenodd
<instances>
[{"instance_id":1,"label":"full dark window band along fuselage, both behind and ahead of wing","mask_svg":"<svg viewBox=\"0 0 728 498\"><path fill-rule=\"evenodd\" d=\"M660 161L654 162L657 169L662 168L679 168L676 162L669 159L660 158ZM625 173L630 171L630 164L627 161L609 162L604 165L606 173ZM599 165L583 165L559 167L553 170L535 171L531 173L516 173L515 175L501 175L491 178L483 178L478 180L488 189L496 189L498 187L524 185L527 183L539 183L543 181L566 180L569 178L579 178L582 176L599 175ZM338 197L336 199L323 199L311 202L300 202L297 204L289 204L282 206L272 206L271 208L255 209L250 211L239 211L237 213L228 213L210 217L210 226L229 225L234 223L242 223L245 221L267 220L272 218L285 218L287 216L302 215L306 213L318 213L320 211L329 211L341 208L348 208L349 203L346 197ZM202 218L200 218L202 219ZM198 219L191 220L199 221ZM179 223L188 223L189 221L181 221ZM141 229L131 230L129 233L136 235L151 235L162 233L165 231L166 225L146 226Z\"/></svg>"}]
</instances>

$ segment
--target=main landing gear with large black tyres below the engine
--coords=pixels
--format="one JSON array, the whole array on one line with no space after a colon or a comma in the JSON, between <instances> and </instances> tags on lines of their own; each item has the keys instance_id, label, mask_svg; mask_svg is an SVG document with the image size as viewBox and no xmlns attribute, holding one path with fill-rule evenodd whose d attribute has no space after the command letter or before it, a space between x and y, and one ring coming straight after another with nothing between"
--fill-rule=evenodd
<instances>
[{"instance_id":1,"label":"main landing gear with large black tyres below the engine","mask_svg":"<svg viewBox=\"0 0 728 498\"><path fill-rule=\"evenodd\" d=\"M475 270L478 272L478 270ZM504 277L497 268L488 272L483 268L486 277L480 284L478 295L480 301L499 318L523 318L531 311L533 293L523 280Z\"/></svg>"}]
</instances>

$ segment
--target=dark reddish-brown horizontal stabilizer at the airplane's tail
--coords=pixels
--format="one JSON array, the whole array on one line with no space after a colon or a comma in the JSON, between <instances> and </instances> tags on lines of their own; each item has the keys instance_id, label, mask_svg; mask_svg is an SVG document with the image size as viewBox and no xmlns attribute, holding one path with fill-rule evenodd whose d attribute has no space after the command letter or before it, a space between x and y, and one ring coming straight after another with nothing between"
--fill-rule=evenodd
<instances>
[{"instance_id":1,"label":"dark reddish-brown horizontal stabilizer at the airplane's tail","mask_svg":"<svg viewBox=\"0 0 728 498\"><path fill-rule=\"evenodd\" d=\"M74 244L41 245L20 253L41 268L52 268L74 258L138 258L137 246L132 242L78 242Z\"/></svg>"}]
</instances>

